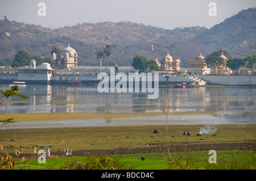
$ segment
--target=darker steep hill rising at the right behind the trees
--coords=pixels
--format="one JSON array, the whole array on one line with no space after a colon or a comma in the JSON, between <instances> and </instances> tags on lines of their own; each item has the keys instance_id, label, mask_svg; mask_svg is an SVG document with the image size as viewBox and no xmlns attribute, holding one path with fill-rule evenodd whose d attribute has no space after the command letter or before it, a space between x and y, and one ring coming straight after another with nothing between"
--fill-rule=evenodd
<instances>
[{"instance_id":1,"label":"darker steep hill rising at the right behind the trees","mask_svg":"<svg viewBox=\"0 0 256 181\"><path fill-rule=\"evenodd\" d=\"M256 9L242 10L216 24L210 30L191 39L193 43L229 50L230 54L244 57L256 52Z\"/></svg>"}]
</instances>

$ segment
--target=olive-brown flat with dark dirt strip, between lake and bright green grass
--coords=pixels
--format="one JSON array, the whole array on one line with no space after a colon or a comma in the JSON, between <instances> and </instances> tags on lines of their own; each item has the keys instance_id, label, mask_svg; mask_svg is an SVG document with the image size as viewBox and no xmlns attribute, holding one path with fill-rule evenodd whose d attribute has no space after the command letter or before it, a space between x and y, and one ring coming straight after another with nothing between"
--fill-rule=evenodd
<instances>
[{"instance_id":1,"label":"olive-brown flat with dark dirt strip, between lake and bright green grass","mask_svg":"<svg viewBox=\"0 0 256 181\"><path fill-rule=\"evenodd\" d=\"M201 129L209 133L197 134ZM32 157L36 150L51 149L51 155L70 148L74 156L135 154L199 150L254 150L256 125L150 125L134 127L84 127L48 129L2 129L3 151ZM158 133L154 133L154 131ZM184 135L183 132L191 135ZM43 146L43 148L40 148Z\"/></svg>"}]
</instances>

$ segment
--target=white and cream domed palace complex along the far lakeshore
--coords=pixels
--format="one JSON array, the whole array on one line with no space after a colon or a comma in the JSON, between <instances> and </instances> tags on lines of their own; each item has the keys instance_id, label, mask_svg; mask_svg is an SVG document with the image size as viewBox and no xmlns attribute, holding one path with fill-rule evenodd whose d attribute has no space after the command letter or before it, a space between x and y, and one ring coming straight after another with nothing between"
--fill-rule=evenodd
<instances>
[{"instance_id":1,"label":"white and cream domed palace complex along the far lakeshore","mask_svg":"<svg viewBox=\"0 0 256 181\"><path fill-rule=\"evenodd\" d=\"M62 84L68 81L82 81L83 84L95 83L100 80L97 79L97 75L101 72L110 73L110 69L114 66L78 66L78 55L75 49L68 47L61 50L61 53L52 53L51 64L43 63L40 66L36 66L36 61L31 60L29 66L21 67L18 69L0 69L0 82L13 82L24 81L26 83L53 83ZM225 58L223 55L221 57ZM226 62L225 58L225 62ZM188 74L194 75L210 75L213 74L212 69L207 68L204 57L200 53L195 60L189 60L189 68L180 68L180 59L174 59L167 53L160 62L156 59L156 62L160 66L159 71L153 73L159 73L159 83L170 84L177 81L193 82L198 81L192 79ZM137 73L137 70L133 66L119 66L119 72L122 73ZM228 73L228 67L221 66L218 68L221 73ZM176 74L180 76L170 76ZM166 76L168 75L168 76Z\"/></svg>"}]
</instances>

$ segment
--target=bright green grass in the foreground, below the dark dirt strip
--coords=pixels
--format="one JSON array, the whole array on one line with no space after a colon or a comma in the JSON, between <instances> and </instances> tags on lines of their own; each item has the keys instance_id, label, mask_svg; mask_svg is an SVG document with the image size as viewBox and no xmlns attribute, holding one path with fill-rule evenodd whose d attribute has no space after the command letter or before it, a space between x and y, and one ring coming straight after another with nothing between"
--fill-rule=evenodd
<instances>
[{"instance_id":1,"label":"bright green grass in the foreground, below the dark dirt strip","mask_svg":"<svg viewBox=\"0 0 256 181\"><path fill-rule=\"evenodd\" d=\"M221 150L217 151L217 163L209 163L208 151L189 151L170 153L123 154L112 155L115 162L122 165L121 169L135 170L167 170L167 169L194 169L194 170L250 170L256 169L256 151ZM145 160L142 161L141 157ZM105 156L108 157L108 156ZM39 164L37 159L26 160L19 166L15 162L15 169L49 169L58 170L61 167L72 165L75 162L88 162L88 157L66 157L47 159L46 163ZM176 163L175 167L174 160ZM24 166L27 165L27 166ZM65 167L67 168L67 167ZM71 168L69 168L71 169Z\"/></svg>"}]
</instances>

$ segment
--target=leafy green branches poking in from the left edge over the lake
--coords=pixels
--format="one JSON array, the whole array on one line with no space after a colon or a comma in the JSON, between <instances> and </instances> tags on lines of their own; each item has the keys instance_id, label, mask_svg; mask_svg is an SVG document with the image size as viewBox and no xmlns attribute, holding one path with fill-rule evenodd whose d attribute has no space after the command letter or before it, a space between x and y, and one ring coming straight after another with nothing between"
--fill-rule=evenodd
<instances>
[{"instance_id":1,"label":"leafy green branches poking in from the left edge over the lake","mask_svg":"<svg viewBox=\"0 0 256 181\"><path fill-rule=\"evenodd\" d=\"M0 90L0 94L2 94L2 96L0 96L0 99L2 99L4 97L6 99L8 99L9 97L13 97L13 96L19 96L22 99L30 99L30 97L28 97L28 96L18 94L17 93L18 91L19 91L18 86L13 86L13 87L11 87L10 90L6 90L6 91ZM0 102L0 106L2 106L2 102ZM16 122L16 121L14 121L13 118L9 118L9 119L6 119L6 120L0 120L0 123L1 123L0 126L4 125L4 124L7 124L7 123L14 123L14 122Z\"/></svg>"}]
</instances>

